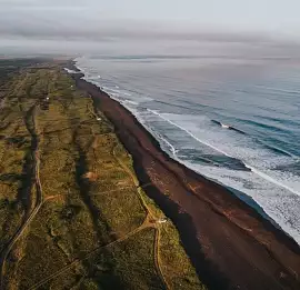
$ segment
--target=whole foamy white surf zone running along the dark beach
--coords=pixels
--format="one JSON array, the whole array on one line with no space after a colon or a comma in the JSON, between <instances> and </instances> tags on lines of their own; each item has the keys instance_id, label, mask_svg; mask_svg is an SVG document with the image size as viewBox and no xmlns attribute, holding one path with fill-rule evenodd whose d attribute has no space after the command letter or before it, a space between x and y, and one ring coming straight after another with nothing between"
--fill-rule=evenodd
<instances>
[{"instance_id":1,"label":"whole foamy white surf zone running along the dark beach","mask_svg":"<svg viewBox=\"0 0 300 290\"><path fill-rule=\"evenodd\" d=\"M80 69L83 73L93 71L88 74L92 78L98 76L98 70L93 66L96 66L94 61L87 60L80 63ZM101 67L99 66L99 68ZM99 72L101 71L99 70ZM117 77L110 78L109 74L103 74L101 83L98 82L97 86L104 86L104 90L114 100L129 109L172 158L178 160L178 150L189 148L190 142L191 149L198 147L199 151L208 152L208 154L222 154L242 160L251 171L203 166L188 159L179 161L209 179L217 180L251 197L271 219L300 244L299 178L292 173L274 170L278 164L289 164L290 158L279 157L270 150L258 148L248 137L237 134L232 130L222 130L221 127L213 128L209 119L199 116L170 114L156 109L140 111L139 103L152 100L148 98L148 94L151 96L151 91L146 96L139 94L139 90L131 91L131 79L130 81L127 79L127 82L120 84L121 90L116 87L119 86L119 81ZM123 88L126 89L123 90ZM116 91L116 89L119 90ZM132 92L132 96L127 96L128 91Z\"/></svg>"}]
</instances>

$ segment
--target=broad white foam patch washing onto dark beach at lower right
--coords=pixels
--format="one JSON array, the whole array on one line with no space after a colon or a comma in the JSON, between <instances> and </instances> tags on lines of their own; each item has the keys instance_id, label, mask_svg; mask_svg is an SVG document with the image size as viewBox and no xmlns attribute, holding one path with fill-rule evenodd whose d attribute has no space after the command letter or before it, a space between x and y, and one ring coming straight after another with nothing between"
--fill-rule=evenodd
<instances>
[{"instance_id":1,"label":"broad white foam patch washing onto dark beach at lower right","mask_svg":"<svg viewBox=\"0 0 300 290\"><path fill-rule=\"evenodd\" d=\"M300 199L298 196L289 194L284 189L279 190L274 183L268 182L253 172L200 166L189 161L183 163L211 180L251 197L266 214L300 244Z\"/></svg>"}]
</instances>

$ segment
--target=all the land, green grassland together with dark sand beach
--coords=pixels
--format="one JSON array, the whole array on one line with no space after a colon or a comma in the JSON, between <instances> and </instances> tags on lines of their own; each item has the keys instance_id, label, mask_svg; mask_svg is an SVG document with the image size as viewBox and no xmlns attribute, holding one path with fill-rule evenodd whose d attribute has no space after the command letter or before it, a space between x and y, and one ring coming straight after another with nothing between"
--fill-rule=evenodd
<instances>
[{"instance_id":1,"label":"all the land, green grassland together with dark sand beach","mask_svg":"<svg viewBox=\"0 0 300 290\"><path fill-rule=\"evenodd\" d=\"M300 289L299 246L72 61L0 73L1 290Z\"/></svg>"}]
</instances>

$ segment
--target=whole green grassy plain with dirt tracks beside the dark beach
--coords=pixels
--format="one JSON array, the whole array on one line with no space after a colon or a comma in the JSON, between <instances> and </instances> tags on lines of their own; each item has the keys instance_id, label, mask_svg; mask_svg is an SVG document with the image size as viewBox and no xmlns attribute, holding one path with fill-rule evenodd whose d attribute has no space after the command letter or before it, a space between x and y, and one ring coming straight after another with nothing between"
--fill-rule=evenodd
<instances>
[{"instance_id":1,"label":"whole green grassy plain with dirt tracks beside the dark beach","mask_svg":"<svg viewBox=\"0 0 300 290\"><path fill-rule=\"evenodd\" d=\"M90 97L54 63L2 86L2 287L206 289Z\"/></svg>"}]
</instances>

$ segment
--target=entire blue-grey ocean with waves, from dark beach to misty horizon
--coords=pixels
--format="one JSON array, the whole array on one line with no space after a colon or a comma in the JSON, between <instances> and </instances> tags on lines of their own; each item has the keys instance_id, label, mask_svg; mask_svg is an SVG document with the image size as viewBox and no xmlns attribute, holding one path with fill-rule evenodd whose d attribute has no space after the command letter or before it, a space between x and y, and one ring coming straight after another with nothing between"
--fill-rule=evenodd
<instances>
[{"instance_id":1,"label":"entire blue-grey ocean with waves, from dark beach to misty horizon","mask_svg":"<svg viewBox=\"0 0 300 290\"><path fill-rule=\"evenodd\" d=\"M76 62L171 158L229 188L300 244L299 58L232 51L106 50Z\"/></svg>"}]
</instances>

